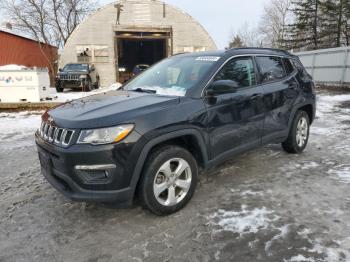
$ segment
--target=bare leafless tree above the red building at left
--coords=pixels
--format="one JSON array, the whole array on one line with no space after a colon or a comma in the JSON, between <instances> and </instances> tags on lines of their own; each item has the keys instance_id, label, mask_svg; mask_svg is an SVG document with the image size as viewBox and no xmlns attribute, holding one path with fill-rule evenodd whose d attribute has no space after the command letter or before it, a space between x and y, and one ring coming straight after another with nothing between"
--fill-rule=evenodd
<instances>
[{"instance_id":1,"label":"bare leafless tree above the red building at left","mask_svg":"<svg viewBox=\"0 0 350 262\"><path fill-rule=\"evenodd\" d=\"M37 41L62 47L95 0L1 0L0 7L20 31ZM0 2L1 3L1 2Z\"/></svg>"}]
</instances>

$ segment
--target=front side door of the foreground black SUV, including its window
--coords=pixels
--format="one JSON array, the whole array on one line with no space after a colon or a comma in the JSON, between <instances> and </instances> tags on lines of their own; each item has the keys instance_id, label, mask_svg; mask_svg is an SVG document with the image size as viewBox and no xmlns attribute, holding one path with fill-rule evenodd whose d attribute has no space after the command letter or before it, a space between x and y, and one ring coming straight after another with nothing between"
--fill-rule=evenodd
<instances>
[{"instance_id":1,"label":"front side door of the foreground black SUV, including its window","mask_svg":"<svg viewBox=\"0 0 350 262\"><path fill-rule=\"evenodd\" d=\"M212 94L205 98L212 160L260 145L264 123L263 90L252 57L232 58L213 83L220 80L231 80L236 87L218 94L211 85L207 89Z\"/></svg>"}]
</instances>

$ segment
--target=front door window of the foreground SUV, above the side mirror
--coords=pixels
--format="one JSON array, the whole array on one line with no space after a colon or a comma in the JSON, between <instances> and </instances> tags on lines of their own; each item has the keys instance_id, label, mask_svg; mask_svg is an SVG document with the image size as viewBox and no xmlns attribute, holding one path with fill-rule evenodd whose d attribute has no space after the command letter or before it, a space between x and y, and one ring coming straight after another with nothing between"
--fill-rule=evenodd
<instances>
[{"instance_id":1,"label":"front door window of the foreground SUV, above the side mirror","mask_svg":"<svg viewBox=\"0 0 350 262\"><path fill-rule=\"evenodd\" d=\"M256 85L253 60L250 57L236 58L229 61L215 76L214 81L232 80L238 87Z\"/></svg>"}]
</instances>

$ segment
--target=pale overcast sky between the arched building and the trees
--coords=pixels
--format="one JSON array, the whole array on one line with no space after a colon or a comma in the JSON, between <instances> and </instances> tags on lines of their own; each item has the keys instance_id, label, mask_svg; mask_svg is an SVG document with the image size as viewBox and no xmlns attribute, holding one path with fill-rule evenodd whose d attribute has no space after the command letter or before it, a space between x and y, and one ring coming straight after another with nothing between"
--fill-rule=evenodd
<instances>
[{"instance_id":1,"label":"pale overcast sky between the arched building and the trees","mask_svg":"<svg viewBox=\"0 0 350 262\"><path fill-rule=\"evenodd\" d=\"M1 1L1 0L0 0ZM99 0L101 5L115 2ZM232 31L244 23L256 26L269 0L165 0L197 19L209 32L218 48L227 46ZM0 12L0 23L1 12Z\"/></svg>"}]
</instances>

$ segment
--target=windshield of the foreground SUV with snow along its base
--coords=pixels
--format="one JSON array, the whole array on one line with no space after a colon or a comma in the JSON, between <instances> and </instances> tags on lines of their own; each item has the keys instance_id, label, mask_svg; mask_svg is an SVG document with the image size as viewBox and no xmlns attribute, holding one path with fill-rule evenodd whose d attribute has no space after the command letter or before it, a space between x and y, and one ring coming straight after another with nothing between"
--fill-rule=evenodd
<instances>
[{"instance_id":1,"label":"windshield of the foreground SUV with snow along its base","mask_svg":"<svg viewBox=\"0 0 350 262\"><path fill-rule=\"evenodd\" d=\"M220 57L172 57L151 67L132 80L124 89L169 96L185 96Z\"/></svg>"}]
</instances>

